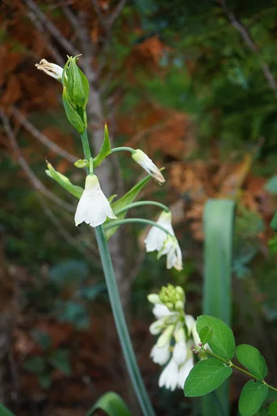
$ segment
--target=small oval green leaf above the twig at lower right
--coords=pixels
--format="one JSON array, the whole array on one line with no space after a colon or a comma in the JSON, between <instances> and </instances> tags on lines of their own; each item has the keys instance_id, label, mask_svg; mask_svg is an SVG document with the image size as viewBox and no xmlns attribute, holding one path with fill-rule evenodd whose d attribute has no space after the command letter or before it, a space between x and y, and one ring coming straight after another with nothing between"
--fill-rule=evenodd
<instances>
[{"instance_id":1,"label":"small oval green leaf above the twig at lower right","mask_svg":"<svg viewBox=\"0 0 277 416\"><path fill-rule=\"evenodd\" d=\"M238 345L235 355L238 361L258 379L265 379L267 375L267 363L260 351L251 345Z\"/></svg>"}]
</instances>

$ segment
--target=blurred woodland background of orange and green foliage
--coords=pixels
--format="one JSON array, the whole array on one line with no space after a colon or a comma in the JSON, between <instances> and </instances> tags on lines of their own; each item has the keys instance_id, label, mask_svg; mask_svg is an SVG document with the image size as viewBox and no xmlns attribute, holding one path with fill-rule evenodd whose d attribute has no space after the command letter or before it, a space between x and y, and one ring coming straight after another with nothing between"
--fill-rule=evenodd
<instances>
[{"instance_id":1,"label":"blurred woodland background of orange and green foliage","mask_svg":"<svg viewBox=\"0 0 277 416\"><path fill-rule=\"evenodd\" d=\"M237 202L233 331L260 349L277 385L277 1L3 0L0 30L0 401L18 416L81 416L118 392L140 415L120 354L93 230L76 228L76 200L45 174L45 158L83 186L78 134L61 84L35 64L82 54L91 84L89 137L107 121L114 146L141 148L165 166L141 198L170 205L181 272L145 255L147 230L111 238L134 349L157 415L197 415L199 400L159 389L146 296L168 282L202 312L202 214L209 198ZM122 196L145 175L127 153L98 174ZM157 209L129 216L154 219ZM275 353L275 355L274 355ZM245 379L231 383L233 415ZM262 415L260 410L260 415ZM100 413L99 413L100 414Z\"/></svg>"}]
</instances>

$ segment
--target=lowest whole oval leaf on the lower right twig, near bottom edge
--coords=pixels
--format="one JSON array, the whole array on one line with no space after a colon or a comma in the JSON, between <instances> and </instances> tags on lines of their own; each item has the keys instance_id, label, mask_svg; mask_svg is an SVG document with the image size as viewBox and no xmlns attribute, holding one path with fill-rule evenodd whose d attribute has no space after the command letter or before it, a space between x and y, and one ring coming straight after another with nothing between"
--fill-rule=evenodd
<instances>
[{"instance_id":1,"label":"lowest whole oval leaf on the lower right twig, near bottom edge","mask_svg":"<svg viewBox=\"0 0 277 416\"><path fill-rule=\"evenodd\" d=\"M267 397L268 387L261 381L249 380L242 388L238 409L241 416L253 416Z\"/></svg>"}]
</instances>

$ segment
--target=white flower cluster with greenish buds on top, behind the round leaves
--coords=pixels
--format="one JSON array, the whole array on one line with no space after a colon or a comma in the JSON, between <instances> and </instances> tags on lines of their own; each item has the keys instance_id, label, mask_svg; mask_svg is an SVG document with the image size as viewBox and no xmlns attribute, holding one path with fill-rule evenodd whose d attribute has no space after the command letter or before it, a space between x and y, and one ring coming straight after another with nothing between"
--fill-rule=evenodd
<instances>
[{"instance_id":1,"label":"white flower cluster with greenish buds on top, behind the round leaves","mask_svg":"<svg viewBox=\"0 0 277 416\"><path fill-rule=\"evenodd\" d=\"M150 333L159 335L150 357L159 365L166 365L159 377L159 387L170 390L184 388L186 378L194 365L191 347L199 343L196 322L184 311L185 294L180 286L161 288L159 295L148 295L154 304L157 318L150 325Z\"/></svg>"}]
</instances>

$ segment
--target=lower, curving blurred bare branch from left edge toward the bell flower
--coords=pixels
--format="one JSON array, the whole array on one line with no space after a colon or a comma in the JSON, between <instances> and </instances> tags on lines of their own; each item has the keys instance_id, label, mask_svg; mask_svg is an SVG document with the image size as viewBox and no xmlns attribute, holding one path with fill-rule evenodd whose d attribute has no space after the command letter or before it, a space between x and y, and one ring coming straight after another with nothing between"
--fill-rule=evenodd
<instances>
[{"instance_id":1,"label":"lower, curving blurred bare branch from left edge toward the bell flower","mask_svg":"<svg viewBox=\"0 0 277 416\"><path fill-rule=\"evenodd\" d=\"M44 184L42 184L42 182L40 182L40 180L37 179L37 176L35 175L35 173L33 173L32 169L30 168L30 166L26 162L26 159L21 154L21 150L20 150L20 148L17 144L17 140L15 139L15 135L13 134L12 128L10 126L10 122L8 120L8 117L6 116L5 112L2 109L0 109L0 118L2 119L3 127L6 131L8 139L10 140L10 144L12 146L12 149L14 150L15 154L17 155L17 161L20 164L21 168L23 168L26 175L28 176L30 182L33 184L33 187L35 189L37 189L37 191L39 191L39 192L43 193L45 196L47 196L47 198L49 198L50 200L55 202L55 204L59 205L63 209L66 209L66 211L74 212L75 209L73 208L73 206L71 204L69 204L68 202L65 202L62 199L60 199L59 197L55 196L55 194L52 193L51 191L48 191L48 189L46 187L44 187Z\"/></svg>"}]
</instances>

